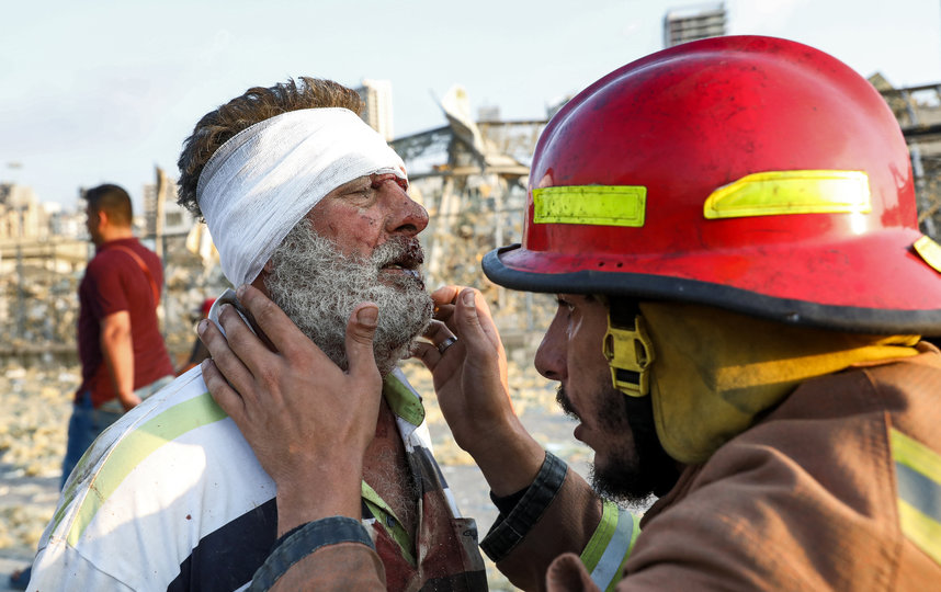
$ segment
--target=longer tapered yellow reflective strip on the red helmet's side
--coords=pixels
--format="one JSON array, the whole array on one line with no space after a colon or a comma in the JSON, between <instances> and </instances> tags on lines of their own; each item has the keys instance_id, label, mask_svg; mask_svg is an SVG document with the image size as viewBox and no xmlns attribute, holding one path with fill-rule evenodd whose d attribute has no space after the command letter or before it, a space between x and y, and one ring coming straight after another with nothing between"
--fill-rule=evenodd
<instances>
[{"instance_id":1,"label":"longer tapered yellow reflective strip on the red helmet's side","mask_svg":"<svg viewBox=\"0 0 941 592\"><path fill-rule=\"evenodd\" d=\"M703 205L707 219L872 210L862 171L769 171L724 185Z\"/></svg>"}]
</instances>

